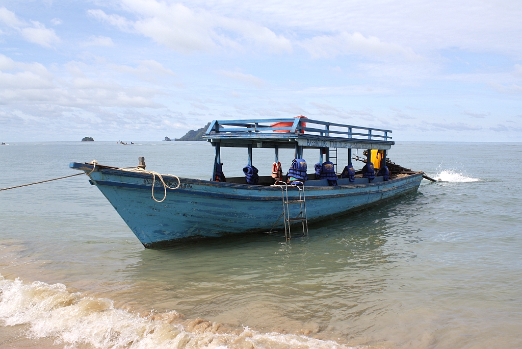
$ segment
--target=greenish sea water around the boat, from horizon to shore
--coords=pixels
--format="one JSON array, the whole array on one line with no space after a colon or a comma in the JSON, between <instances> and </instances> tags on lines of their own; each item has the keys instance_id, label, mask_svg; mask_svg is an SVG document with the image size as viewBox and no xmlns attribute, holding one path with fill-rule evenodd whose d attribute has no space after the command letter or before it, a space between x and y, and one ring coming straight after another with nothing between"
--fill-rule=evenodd
<instances>
[{"instance_id":1,"label":"greenish sea water around the boat, from horizon to shore","mask_svg":"<svg viewBox=\"0 0 522 349\"><path fill-rule=\"evenodd\" d=\"M210 178L209 144L135 143L0 146L0 188L138 156ZM316 153L304 152L310 168ZM253 157L269 175L273 151ZM281 150L284 169L292 157ZM149 250L84 175L2 191L0 347L522 347L522 144L398 143L389 157L441 181L289 242ZM339 150L339 171L346 161ZM223 149L222 162L241 176L246 149Z\"/></svg>"}]
</instances>

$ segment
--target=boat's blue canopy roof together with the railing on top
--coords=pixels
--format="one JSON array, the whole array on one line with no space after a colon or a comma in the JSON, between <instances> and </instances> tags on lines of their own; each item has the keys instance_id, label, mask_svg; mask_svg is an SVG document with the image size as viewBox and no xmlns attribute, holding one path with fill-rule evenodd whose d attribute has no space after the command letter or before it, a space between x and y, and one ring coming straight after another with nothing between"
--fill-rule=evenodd
<instances>
[{"instance_id":1,"label":"boat's blue canopy roof together with the railing on top","mask_svg":"<svg viewBox=\"0 0 522 349\"><path fill-rule=\"evenodd\" d=\"M223 127L227 126L227 127ZM230 127L232 126L232 127ZM291 119L214 120L203 138L213 146L389 149L391 130L372 129L303 117Z\"/></svg>"}]
</instances>

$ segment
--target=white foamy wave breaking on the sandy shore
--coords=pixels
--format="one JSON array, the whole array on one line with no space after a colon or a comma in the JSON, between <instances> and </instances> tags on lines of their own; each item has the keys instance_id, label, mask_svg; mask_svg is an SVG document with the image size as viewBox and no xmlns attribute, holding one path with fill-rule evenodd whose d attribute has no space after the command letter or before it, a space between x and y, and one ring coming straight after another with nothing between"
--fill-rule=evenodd
<instances>
[{"instance_id":1,"label":"white foamy wave breaking on the sandy shore","mask_svg":"<svg viewBox=\"0 0 522 349\"><path fill-rule=\"evenodd\" d=\"M143 318L114 308L110 299L82 297L65 285L24 284L0 275L0 328L29 324L29 338L54 338L56 344L96 348L348 348L304 335L220 331L201 319L173 323L177 312Z\"/></svg>"}]
</instances>

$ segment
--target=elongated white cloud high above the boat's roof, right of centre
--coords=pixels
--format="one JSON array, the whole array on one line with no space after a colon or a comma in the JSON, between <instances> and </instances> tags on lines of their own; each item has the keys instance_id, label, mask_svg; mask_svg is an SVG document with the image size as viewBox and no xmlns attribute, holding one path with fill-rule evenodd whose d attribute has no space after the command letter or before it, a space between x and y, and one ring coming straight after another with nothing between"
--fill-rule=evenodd
<instances>
[{"instance_id":1,"label":"elongated white cloud high above the boat's roof, right of centre","mask_svg":"<svg viewBox=\"0 0 522 349\"><path fill-rule=\"evenodd\" d=\"M366 56L400 55L408 60L419 59L411 48L398 44L382 42L376 37L364 37L360 32L342 32L336 36L316 36L301 41L312 58L335 58L338 55L362 54Z\"/></svg>"}]
</instances>

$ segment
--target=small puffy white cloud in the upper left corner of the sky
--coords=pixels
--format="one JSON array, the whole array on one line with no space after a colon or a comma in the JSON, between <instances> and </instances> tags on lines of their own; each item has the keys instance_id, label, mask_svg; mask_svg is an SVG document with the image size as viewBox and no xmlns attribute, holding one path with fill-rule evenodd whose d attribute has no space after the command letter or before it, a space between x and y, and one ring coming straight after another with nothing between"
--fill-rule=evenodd
<instances>
[{"instance_id":1,"label":"small puffy white cloud in the upper left corner of the sky","mask_svg":"<svg viewBox=\"0 0 522 349\"><path fill-rule=\"evenodd\" d=\"M18 19L14 12L5 7L0 7L0 21L18 30L22 37L29 42L45 47L51 47L52 44L60 42L60 38L56 36L54 29L45 28L45 25L39 21L31 21L32 26L30 26L27 22Z\"/></svg>"}]
</instances>

